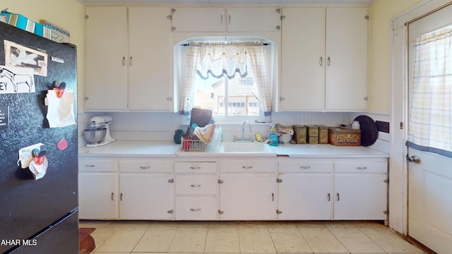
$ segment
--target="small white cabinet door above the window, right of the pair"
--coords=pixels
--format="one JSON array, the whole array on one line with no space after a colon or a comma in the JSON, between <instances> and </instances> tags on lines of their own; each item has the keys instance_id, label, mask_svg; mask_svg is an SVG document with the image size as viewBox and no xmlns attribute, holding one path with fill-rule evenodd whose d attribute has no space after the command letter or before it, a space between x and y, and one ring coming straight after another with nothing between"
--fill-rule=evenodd
<instances>
[{"instance_id":1,"label":"small white cabinet door above the window, right of the pair","mask_svg":"<svg viewBox=\"0 0 452 254\"><path fill-rule=\"evenodd\" d=\"M278 32L280 8L227 8L227 32Z\"/></svg>"}]
</instances>

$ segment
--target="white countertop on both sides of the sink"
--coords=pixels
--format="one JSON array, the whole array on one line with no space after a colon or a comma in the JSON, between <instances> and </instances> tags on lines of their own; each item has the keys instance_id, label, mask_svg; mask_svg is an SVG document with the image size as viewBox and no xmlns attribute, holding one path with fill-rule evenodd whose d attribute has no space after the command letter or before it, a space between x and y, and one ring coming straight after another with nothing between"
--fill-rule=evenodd
<instances>
[{"instance_id":1,"label":"white countertop on both sides of the sink","mask_svg":"<svg viewBox=\"0 0 452 254\"><path fill-rule=\"evenodd\" d=\"M121 157L230 157L246 154L222 154L221 152L182 152L180 145L172 141L124 141L117 140L101 147L79 147L83 156L121 156ZM369 147L339 147L334 145L292 145L279 144L271 147L278 156L289 157L389 157L385 152ZM249 156L249 154L247 154ZM257 155L258 156L258 155ZM274 156L274 155L273 155Z\"/></svg>"}]
</instances>

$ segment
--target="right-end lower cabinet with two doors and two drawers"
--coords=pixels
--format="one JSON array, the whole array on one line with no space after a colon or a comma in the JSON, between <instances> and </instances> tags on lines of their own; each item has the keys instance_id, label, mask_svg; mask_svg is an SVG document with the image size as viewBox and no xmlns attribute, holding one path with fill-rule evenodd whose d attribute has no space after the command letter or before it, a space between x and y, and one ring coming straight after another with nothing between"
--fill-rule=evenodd
<instances>
[{"instance_id":1,"label":"right-end lower cabinet with two doors and two drawers","mask_svg":"<svg viewBox=\"0 0 452 254\"><path fill-rule=\"evenodd\" d=\"M283 159L278 219L386 220L387 171L386 159Z\"/></svg>"}]
</instances>

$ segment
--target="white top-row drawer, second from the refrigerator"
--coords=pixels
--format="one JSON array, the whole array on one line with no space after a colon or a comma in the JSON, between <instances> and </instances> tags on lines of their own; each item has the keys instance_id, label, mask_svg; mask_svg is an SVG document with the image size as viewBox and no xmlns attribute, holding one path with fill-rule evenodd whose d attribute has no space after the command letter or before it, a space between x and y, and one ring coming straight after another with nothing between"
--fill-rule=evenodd
<instances>
[{"instance_id":1,"label":"white top-row drawer, second from the refrigerator","mask_svg":"<svg viewBox=\"0 0 452 254\"><path fill-rule=\"evenodd\" d=\"M120 161L119 171L134 173L171 173L172 164L169 161Z\"/></svg>"}]
</instances>

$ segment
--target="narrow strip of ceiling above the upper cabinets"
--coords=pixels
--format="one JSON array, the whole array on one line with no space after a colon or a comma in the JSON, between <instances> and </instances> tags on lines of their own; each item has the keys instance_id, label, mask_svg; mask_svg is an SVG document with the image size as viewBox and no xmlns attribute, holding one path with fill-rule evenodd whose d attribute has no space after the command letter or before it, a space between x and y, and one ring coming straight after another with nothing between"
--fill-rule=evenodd
<instances>
[{"instance_id":1,"label":"narrow strip of ceiling above the upper cabinets","mask_svg":"<svg viewBox=\"0 0 452 254\"><path fill-rule=\"evenodd\" d=\"M371 5L377 0L78 0L82 4Z\"/></svg>"}]
</instances>

